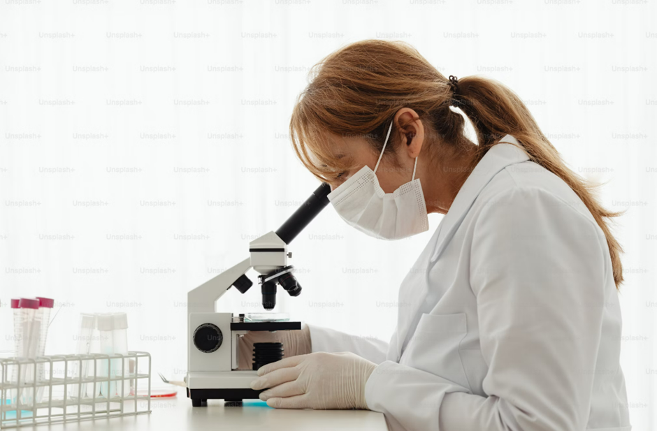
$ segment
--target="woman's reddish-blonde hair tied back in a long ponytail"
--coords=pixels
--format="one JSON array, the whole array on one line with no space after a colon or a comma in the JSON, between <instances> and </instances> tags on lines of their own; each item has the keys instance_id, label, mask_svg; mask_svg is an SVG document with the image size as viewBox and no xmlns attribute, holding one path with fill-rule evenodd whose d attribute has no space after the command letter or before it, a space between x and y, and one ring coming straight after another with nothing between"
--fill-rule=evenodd
<instances>
[{"instance_id":1,"label":"woman's reddish-blonde hair tied back in a long ponytail","mask_svg":"<svg viewBox=\"0 0 657 431\"><path fill-rule=\"evenodd\" d=\"M621 213L600 205L593 194L595 184L565 165L519 96L500 82L466 76L459 79L458 91L452 96L449 80L407 43L352 43L311 69L310 83L298 96L292 111L292 145L313 175L332 182L335 175L353 166L349 157L335 154L329 135L362 136L380 152L389 122L400 108L407 107L417 112L429 133L438 137L433 143L428 141L433 147L458 152L470 141L463 134L465 119L450 108L454 100L475 127L479 144L475 164L496 141L510 134L532 161L560 177L577 193L605 233L618 288L623 282L622 249L607 219ZM387 145L386 154L394 152L396 143L391 140L391 144ZM429 149L434 153L439 150Z\"/></svg>"}]
</instances>

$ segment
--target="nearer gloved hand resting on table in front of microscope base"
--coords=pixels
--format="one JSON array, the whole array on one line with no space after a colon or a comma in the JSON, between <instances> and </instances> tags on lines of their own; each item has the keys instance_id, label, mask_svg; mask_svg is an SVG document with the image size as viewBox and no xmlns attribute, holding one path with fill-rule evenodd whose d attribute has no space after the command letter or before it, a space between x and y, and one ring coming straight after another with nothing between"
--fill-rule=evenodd
<instances>
[{"instance_id":1,"label":"nearer gloved hand resting on table in front of microscope base","mask_svg":"<svg viewBox=\"0 0 657 431\"><path fill-rule=\"evenodd\" d=\"M377 365L347 353L316 352L284 358L258 370L251 388L280 409L368 409L365 383Z\"/></svg>"}]
</instances>

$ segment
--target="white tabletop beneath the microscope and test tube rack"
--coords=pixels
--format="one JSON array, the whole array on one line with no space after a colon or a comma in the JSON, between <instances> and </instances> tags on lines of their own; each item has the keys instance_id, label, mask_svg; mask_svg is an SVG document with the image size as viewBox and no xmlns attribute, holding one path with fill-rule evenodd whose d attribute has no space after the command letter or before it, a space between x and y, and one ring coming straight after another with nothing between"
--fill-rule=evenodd
<instances>
[{"instance_id":1,"label":"white tabletop beneath the microscope and test tube rack","mask_svg":"<svg viewBox=\"0 0 657 431\"><path fill-rule=\"evenodd\" d=\"M140 402L141 403L141 402ZM208 407L192 407L185 390L177 397L152 398L151 414L96 419L66 424L14 428L34 431L163 431L163 430L359 430L387 431L383 414L364 410L272 409L259 400L245 400L243 407L224 407L222 400L208 400Z\"/></svg>"}]
</instances>

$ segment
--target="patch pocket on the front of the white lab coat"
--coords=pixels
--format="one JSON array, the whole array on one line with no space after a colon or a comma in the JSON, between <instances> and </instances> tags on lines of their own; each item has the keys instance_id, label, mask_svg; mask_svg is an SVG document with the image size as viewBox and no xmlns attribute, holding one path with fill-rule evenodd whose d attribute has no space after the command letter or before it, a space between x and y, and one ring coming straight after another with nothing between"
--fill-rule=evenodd
<instances>
[{"instance_id":1,"label":"patch pocket on the front of the white lab coat","mask_svg":"<svg viewBox=\"0 0 657 431\"><path fill-rule=\"evenodd\" d=\"M400 363L435 374L472 392L459 354L459 345L467 332L465 313L422 314Z\"/></svg>"}]
</instances>

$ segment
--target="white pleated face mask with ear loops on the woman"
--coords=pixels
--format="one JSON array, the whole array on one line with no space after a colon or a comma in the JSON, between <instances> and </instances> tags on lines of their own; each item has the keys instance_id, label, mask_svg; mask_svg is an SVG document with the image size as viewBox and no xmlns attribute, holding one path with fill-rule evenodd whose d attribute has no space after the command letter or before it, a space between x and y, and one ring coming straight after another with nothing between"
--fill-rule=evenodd
<instances>
[{"instance_id":1,"label":"white pleated face mask with ear loops on the woman","mask_svg":"<svg viewBox=\"0 0 657 431\"><path fill-rule=\"evenodd\" d=\"M328 196L347 224L382 240L407 238L429 228L420 180L414 180L417 158L411 181L402 184L394 193L385 193L375 175L391 130L392 122L374 171L363 166Z\"/></svg>"}]
</instances>

